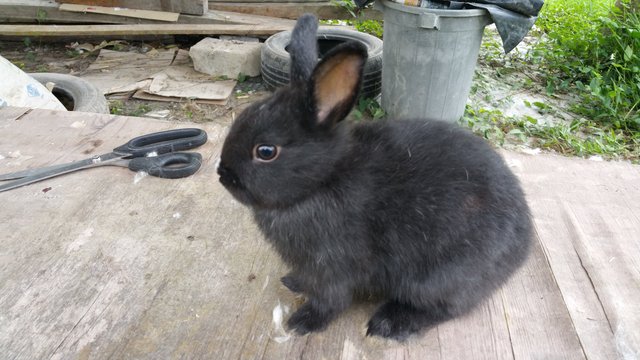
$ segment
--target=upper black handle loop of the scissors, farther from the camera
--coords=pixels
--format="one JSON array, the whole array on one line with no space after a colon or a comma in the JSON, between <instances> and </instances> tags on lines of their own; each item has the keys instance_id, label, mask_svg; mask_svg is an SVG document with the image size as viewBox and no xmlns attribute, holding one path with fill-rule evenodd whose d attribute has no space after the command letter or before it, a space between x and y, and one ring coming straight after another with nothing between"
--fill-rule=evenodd
<instances>
[{"instance_id":1,"label":"upper black handle loop of the scissors, farther from the camera","mask_svg":"<svg viewBox=\"0 0 640 360\"><path fill-rule=\"evenodd\" d=\"M138 136L113 149L133 157L155 152L158 155L196 148L207 142L207 133L196 128L174 129Z\"/></svg>"}]
</instances>

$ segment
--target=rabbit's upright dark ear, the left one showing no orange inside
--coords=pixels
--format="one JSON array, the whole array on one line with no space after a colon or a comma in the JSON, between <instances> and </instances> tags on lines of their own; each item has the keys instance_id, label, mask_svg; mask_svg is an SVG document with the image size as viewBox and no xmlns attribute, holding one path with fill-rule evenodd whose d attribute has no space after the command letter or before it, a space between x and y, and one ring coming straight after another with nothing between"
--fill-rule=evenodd
<instances>
[{"instance_id":1,"label":"rabbit's upright dark ear, the left one showing no orange inside","mask_svg":"<svg viewBox=\"0 0 640 360\"><path fill-rule=\"evenodd\" d=\"M296 22L287 50L291 55L291 83L306 85L318 63L318 19L304 14Z\"/></svg>"}]
</instances>

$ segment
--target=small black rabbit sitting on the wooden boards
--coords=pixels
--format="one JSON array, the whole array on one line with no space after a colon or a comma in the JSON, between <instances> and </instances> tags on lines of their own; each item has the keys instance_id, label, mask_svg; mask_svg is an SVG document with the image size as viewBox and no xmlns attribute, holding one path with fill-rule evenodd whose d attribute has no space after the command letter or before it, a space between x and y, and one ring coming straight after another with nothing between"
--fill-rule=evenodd
<instances>
[{"instance_id":1,"label":"small black rabbit sitting on the wooden boards","mask_svg":"<svg viewBox=\"0 0 640 360\"><path fill-rule=\"evenodd\" d=\"M367 334L403 340L468 312L523 263L529 209L501 157L456 125L341 122L367 52L348 42L318 63L316 30L313 15L298 20L291 84L233 123L220 182L308 298L291 329L322 330L354 294L377 294Z\"/></svg>"}]
</instances>

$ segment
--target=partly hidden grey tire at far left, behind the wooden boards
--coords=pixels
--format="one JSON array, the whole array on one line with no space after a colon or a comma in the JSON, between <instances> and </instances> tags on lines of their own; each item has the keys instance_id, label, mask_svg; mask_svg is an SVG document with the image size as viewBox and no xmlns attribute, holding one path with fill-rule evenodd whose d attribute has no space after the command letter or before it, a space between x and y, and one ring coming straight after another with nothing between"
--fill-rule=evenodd
<instances>
[{"instance_id":1,"label":"partly hidden grey tire at far left, behind the wooden boards","mask_svg":"<svg viewBox=\"0 0 640 360\"><path fill-rule=\"evenodd\" d=\"M56 73L30 73L29 76L45 86L49 82L54 83L55 86L51 92L58 99L61 97L72 99L73 109L69 109L69 106L65 104L67 110L109 114L107 99L102 94L102 91L84 79L73 75ZM64 103L64 101L61 102Z\"/></svg>"}]
</instances>

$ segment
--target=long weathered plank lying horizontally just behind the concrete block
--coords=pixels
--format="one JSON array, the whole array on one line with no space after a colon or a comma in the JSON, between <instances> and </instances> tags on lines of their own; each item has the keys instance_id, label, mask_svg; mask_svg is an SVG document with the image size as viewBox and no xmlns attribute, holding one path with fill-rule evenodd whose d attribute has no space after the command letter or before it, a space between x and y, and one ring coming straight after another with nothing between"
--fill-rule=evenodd
<instances>
[{"instance_id":1,"label":"long weathered plank lying horizontally just behind the concrete block","mask_svg":"<svg viewBox=\"0 0 640 360\"><path fill-rule=\"evenodd\" d=\"M0 25L0 37L91 37L134 35L246 35L269 36L289 25L139 24L139 25Z\"/></svg>"}]
</instances>

